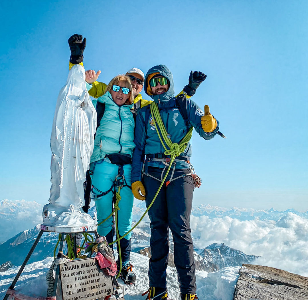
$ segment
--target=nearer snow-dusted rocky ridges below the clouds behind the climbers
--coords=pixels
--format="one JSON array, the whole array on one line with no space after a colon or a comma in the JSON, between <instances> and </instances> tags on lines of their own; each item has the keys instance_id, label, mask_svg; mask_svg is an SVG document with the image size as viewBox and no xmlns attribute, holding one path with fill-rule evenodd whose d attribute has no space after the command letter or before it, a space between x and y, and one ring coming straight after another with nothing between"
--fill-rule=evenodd
<instances>
[{"instance_id":1,"label":"nearer snow-dusted rocky ridges below the clouds behind the climbers","mask_svg":"<svg viewBox=\"0 0 308 300\"><path fill-rule=\"evenodd\" d=\"M146 224L145 224L146 225ZM149 227L145 226L147 231ZM22 231L13 238L7 240L0 245L0 270L5 271L12 267L12 265L21 265L36 237L40 231L40 225ZM40 261L48 256L53 256L55 245L58 241L58 234L44 233L34 252L32 253L28 263ZM132 233L132 251L141 253L150 257L151 252L149 248L150 234L142 228L136 228ZM142 249L142 250L141 250ZM141 250L141 251L140 251ZM194 257L196 261L196 268L207 272L218 271L225 267L241 266L243 263L253 262L257 258L254 255L246 255L245 253L230 248L225 244L211 244L204 249L195 249ZM173 264L173 242L170 235L170 259L169 265ZM1 272L1 271L0 271Z\"/></svg>"}]
</instances>

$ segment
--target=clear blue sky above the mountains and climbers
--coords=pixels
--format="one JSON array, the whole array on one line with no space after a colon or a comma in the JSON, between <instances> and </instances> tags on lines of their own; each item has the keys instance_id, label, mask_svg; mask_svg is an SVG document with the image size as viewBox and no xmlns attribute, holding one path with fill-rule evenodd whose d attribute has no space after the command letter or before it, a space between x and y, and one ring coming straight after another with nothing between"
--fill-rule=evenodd
<instances>
[{"instance_id":1,"label":"clear blue sky above the mountains and climbers","mask_svg":"<svg viewBox=\"0 0 308 300\"><path fill-rule=\"evenodd\" d=\"M307 14L307 1L2 3L0 199L48 202L55 103L79 33L99 81L165 64L177 92L191 70L207 74L193 100L227 139L193 135L194 205L308 210Z\"/></svg>"}]
</instances>

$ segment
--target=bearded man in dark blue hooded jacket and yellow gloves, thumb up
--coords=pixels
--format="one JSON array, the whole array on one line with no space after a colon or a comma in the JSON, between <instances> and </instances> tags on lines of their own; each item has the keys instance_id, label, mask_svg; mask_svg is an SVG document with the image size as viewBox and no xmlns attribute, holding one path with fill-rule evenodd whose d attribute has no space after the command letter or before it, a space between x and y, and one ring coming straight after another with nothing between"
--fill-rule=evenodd
<instances>
[{"instance_id":1,"label":"bearded man in dark blue hooded jacket and yellow gloves, thumb up","mask_svg":"<svg viewBox=\"0 0 308 300\"><path fill-rule=\"evenodd\" d=\"M204 75L204 79L205 77ZM197 88L196 85L195 88ZM185 117L179 110L179 102L174 97L172 73L165 65L157 65L148 71L145 76L144 90L157 103L160 117L168 133L167 138L173 143L179 143L191 126L205 140L210 140L216 135L219 129L218 121L209 111L204 114L190 99L184 99L187 111L185 123ZM183 96L178 97L181 97L183 101ZM132 160L132 192L135 198L145 200L148 207L161 184L168 162L170 162L170 156L164 154L150 106L140 110L135 128L136 148ZM144 156L146 156L145 161ZM151 299L160 300L168 296L166 269L169 227L173 236L174 263L180 283L181 299L197 298L193 241L189 224L195 187L193 176L191 176L190 156L191 145L188 143L184 152L176 157L165 184L148 210L151 221L152 252L149 261L150 288L148 293Z\"/></svg>"}]
</instances>

